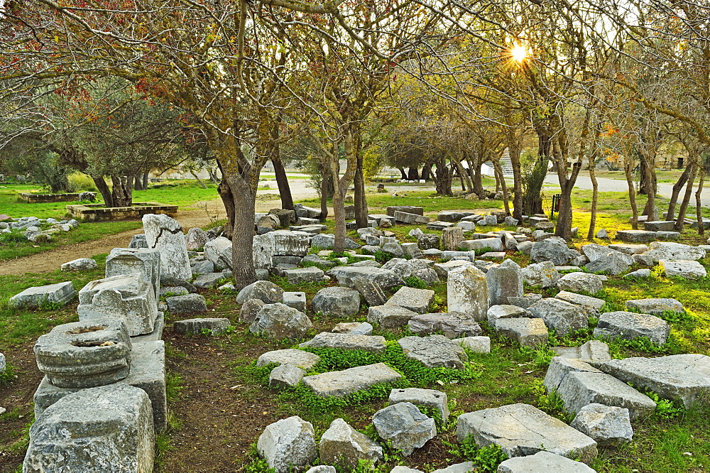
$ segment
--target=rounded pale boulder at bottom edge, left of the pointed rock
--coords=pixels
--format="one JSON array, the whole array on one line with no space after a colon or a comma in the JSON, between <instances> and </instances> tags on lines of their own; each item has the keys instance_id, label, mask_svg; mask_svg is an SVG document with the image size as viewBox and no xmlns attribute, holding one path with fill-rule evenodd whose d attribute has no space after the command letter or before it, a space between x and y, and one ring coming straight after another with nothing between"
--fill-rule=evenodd
<instances>
[{"instance_id":1,"label":"rounded pale boulder at bottom edge, left of the pointed rock","mask_svg":"<svg viewBox=\"0 0 710 473\"><path fill-rule=\"evenodd\" d=\"M256 450L276 473L305 467L318 456L313 425L297 415L267 425Z\"/></svg>"}]
</instances>

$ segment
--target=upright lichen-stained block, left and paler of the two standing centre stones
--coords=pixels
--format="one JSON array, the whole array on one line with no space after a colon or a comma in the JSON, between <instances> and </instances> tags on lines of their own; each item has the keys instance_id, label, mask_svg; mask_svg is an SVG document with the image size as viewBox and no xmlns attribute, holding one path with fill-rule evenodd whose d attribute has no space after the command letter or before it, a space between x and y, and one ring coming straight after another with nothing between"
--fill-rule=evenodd
<instances>
[{"instance_id":1,"label":"upright lichen-stained block, left and paler of the two standing centre stones","mask_svg":"<svg viewBox=\"0 0 710 473\"><path fill-rule=\"evenodd\" d=\"M449 271L447 302L451 312L463 312L479 321L488 312L488 284L486 275L475 266L463 266Z\"/></svg>"}]
</instances>

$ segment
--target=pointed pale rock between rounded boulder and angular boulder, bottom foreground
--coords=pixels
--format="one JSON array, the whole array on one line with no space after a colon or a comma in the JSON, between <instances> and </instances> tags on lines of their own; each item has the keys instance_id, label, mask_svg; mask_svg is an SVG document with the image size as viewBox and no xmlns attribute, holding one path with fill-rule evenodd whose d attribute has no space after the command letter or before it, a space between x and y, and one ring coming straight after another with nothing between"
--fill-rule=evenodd
<instances>
[{"instance_id":1,"label":"pointed pale rock between rounded boulder and angular boulder, bottom foreground","mask_svg":"<svg viewBox=\"0 0 710 473\"><path fill-rule=\"evenodd\" d=\"M359 433L342 419L335 419L320 438L320 461L355 469L360 460L376 464L382 447L367 435Z\"/></svg>"}]
</instances>

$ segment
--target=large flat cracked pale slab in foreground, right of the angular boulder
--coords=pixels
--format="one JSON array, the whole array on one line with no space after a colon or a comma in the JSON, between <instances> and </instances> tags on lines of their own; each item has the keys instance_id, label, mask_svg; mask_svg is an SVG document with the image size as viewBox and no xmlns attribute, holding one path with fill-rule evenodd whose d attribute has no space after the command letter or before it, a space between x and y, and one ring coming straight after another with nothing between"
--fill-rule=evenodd
<instances>
[{"instance_id":1,"label":"large flat cracked pale slab in foreground, right of the angular boulder","mask_svg":"<svg viewBox=\"0 0 710 473\"><path fill-rule=\"evenodd\" d=\"M590 463L596 442L579 430L529 404L508 404L459 415L459 442L474 435L479 447L499 445L508 457L535 455L542 450Z\"/></svg>"}]
</instances>

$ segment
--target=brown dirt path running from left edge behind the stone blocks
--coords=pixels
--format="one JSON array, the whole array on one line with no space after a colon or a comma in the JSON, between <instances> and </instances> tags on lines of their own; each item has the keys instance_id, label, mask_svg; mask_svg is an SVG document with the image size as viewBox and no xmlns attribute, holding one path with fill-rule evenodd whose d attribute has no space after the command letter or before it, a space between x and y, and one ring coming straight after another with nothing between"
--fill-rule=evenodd
<instances>
[{"instance_id":1,"label":"brown dirt path running from left edge behind the stone blocks","mask_svg":"<svg viewBox=\"0 0 710 473\"><path fill-rule=\"evenodd\" d=\"M270 182L271 190L260 190L260 199L256 201L256 212L267 212L274 207L280 207L281 202L275 181ZM293 200L307 199L315 197L316 193L306 186L303 179L294 180L290 183ZM204 227L212 219L224 219L226 212L222 200L206 200L197 202L192 207L197 210L181 210L178 212L178 222L182 228L187 230L192 227ZM143 229L129 230L106 237L83 241L44 251L43 253L25 256L11 261L0 261L0 275L24 274L24 273L46 273L55 271L62 263L72 261L77 258L91 258L96 254L109 253L114 248L125 248L128 246L133 235L143 233Z\"/></svg>"}]
</instances>

